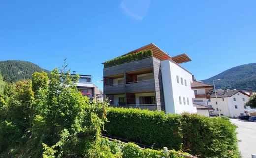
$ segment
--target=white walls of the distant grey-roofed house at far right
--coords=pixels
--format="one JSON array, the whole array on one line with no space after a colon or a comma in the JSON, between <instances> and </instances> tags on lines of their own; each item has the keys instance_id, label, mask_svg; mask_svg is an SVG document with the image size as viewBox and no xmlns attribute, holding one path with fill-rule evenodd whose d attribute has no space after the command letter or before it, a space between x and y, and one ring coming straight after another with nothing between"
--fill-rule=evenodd
<instances>
[{"instance_id":1,"label":"white walls of the distant grey-roofed house at far right","mask_svg":"<svg viewBox=\"0 0 256 158\"><path fill-rule=\"evenodd\" d=\"M233 98L236 98L236 101L234 101ZM243 98L245 98L245 101L243 101ZM246 109L244 108L244 104L248 101L248 99L249 96L240 92L231 97L217 98L217 103L219 104L219 109L221 110L220 113L228 117L238 117L241 115L241 113L246 115L244 112L251 109L248 106ZM208 102L208 105L212 105L212 107L215 109L213 112L215 115L218 115L219 113L217 111L218 104L216 105L216 98L211 98L211 102ZM238 109L235 108L235 105L237 105Z\"/></svg>"}]
</instances>

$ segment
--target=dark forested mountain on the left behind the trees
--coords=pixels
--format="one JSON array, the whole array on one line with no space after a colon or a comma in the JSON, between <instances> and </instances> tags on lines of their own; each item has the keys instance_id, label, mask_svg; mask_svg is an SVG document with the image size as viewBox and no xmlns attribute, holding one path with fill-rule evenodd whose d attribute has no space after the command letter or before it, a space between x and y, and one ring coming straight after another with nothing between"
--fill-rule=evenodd
<instances>
[{"instance_id":1,"label":"dark forested mountain on the left behind the trees","mask_svg":"<svg viewBox=\"0 0 256 158\"><path fill-rule=\"evenodd\" d=\"M3 79L7 82L29 79L34 72L45 71L48 74L50 73L50 71L45 70L34 63L16 60L0 61L0 71Z\"/></svg>"}]
</instances>

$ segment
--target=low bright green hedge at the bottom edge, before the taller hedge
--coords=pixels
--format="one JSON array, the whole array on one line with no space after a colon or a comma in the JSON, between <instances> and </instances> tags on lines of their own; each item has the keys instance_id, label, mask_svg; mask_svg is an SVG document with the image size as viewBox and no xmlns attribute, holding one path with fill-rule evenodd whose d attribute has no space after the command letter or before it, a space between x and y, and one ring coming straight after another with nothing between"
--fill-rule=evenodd
<instances>
[{"instance_id":1,"label":"low bright green hedge at the bottom edge, before the taller hedge","mask_svg":"<svg viewBox=\"0 0 256 158\"><path fill-rule=\"evenodd\" d=\"M101 139L100 149L105 149L103 152L100 152L103 158L186 158L179 154L182 152L174 150L167 153L163 150L142 150L138 145L133 143L123 144L116 141L111 142L107 139ZM188 155L188 153L182 154Z\"/></svg>"}]
</instances>

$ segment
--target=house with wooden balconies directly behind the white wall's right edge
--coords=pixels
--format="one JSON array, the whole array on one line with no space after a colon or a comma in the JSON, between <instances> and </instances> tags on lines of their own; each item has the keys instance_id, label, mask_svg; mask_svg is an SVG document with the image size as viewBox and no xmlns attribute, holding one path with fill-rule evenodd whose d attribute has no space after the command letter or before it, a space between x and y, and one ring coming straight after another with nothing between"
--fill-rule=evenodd
<instances>
[{"instance_id":1,"label":"house with wooden balconies directly behind the white wall's right edge","mask_svg":"<svg viewBox=\"0 0 256 158\"><path fill-rule=\"evenodd\" d=\"M196 107L197 113L210 116L209 112L212 112L214 109L208 106L207 99L210 99L211 95L207 95L206 92L213 89L213 85L196 81L193 76L191 89L194 91L195 98L193 99L193 106Z\"/></svg>"}]
</instances>

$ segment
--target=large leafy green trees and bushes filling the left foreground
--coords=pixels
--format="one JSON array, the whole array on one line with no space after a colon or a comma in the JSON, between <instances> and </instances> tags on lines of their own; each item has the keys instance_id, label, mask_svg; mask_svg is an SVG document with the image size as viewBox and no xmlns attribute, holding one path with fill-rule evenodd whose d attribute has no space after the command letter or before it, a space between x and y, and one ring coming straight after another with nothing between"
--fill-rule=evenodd
<instances>
[{"instance_id":1,"label":"large leafy green trees and bushes filling the left foreground","mask_svg":"<svg viewBox=\"0 0 256 158\"><path fill-rule=\"evenodd\" d=\"M0 157L83 158L98 146L108 103L90 103L70 72L34 73L5 86L0 100Z\"/></svg>"}]
</instances>

